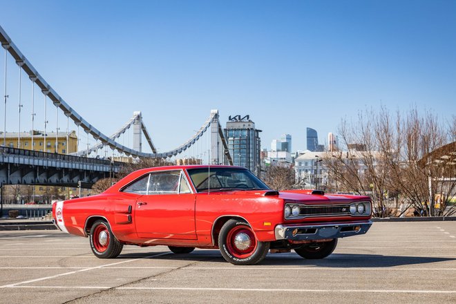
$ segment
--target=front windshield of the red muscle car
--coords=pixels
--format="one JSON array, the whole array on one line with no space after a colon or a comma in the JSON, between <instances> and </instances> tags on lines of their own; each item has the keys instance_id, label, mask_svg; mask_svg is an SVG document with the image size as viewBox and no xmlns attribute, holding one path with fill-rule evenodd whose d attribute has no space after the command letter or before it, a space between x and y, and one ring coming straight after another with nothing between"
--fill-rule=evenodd
<instances>
[{"instance_id":1,"label":"front windshield of the red muscle car","mask_svg":"<svg viewBox=\"0 0 456 304\"><path fill-rule=\"evenodd\" d=\"M198 168L188 169L198 192L229 190L269 190L269 187L247 169Z\"/></svg>"}]
</instances>

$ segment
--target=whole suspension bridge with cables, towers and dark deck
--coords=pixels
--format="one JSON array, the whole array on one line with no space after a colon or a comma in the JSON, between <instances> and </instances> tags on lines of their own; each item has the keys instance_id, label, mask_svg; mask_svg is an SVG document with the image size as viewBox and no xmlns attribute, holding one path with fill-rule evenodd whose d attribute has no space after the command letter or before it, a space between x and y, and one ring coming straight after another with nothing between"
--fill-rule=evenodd
<instances>
[{"instance_id":1,"label":"whole suspension bridge with cables, towers and dark deck","mask_svg":"<svg viewBox=\"0 0 456 304\"><path fill-rule=\"evenodd\" d=\"M106 178L116 173L122 162L113 160L123 158L133 160L160 158L184 164L189 163L189 160L198 164L233 164L220 126L218 110L211 110L207 120L187 142L171 151L159 152L153 144L140 111L134 112L131 119L115 133L105 135L79 115L75 108L46 82L1 26L0 42L4 49L2 73L4 115L3 132L0 133L3 137L0 137L0 183L75 187L82 181L90 185L99 178ZM23 79L29 83L23 82ZM24 97L26 92L28 97ZM39 99L42 100L41 106L37 106ZM48 117L49 106L55 108L54 122ZM31 117L30 120L25 120L25 123L22 117L24 111L28 111L26 116ZM11 117L17 117L17 120L10 122ZM66 126L62 125L62 120L65 118ZM40 132L39 138L35 138L34 135L39 129L37 119L41 121L44 129ZM17 128L16 132L8 131L7 126L10 129ZM77 134L75 151L70 151L69 146L72 128ZM66 138L62 139L59 136L61 129L66 129ZM79 136L81 129L86 134L84 145L81 144L82 140ZM131 146L128 143L125 144L126 136L130 133L132 134ZM29 134L30 146L23 143ZM144 151L143 140L150 151ZM129 138L127 142L130 142ZM61 149L65 153L59 153L59 146L66 147Z\"/></svg>"}]
</instances>

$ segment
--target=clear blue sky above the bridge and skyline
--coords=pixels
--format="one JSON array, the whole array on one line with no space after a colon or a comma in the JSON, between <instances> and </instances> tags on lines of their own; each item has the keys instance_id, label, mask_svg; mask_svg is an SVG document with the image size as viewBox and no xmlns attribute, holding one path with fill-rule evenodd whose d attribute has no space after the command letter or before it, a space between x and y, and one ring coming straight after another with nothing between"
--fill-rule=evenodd
<instances>
[{"instance_id":1,"label":"clear blue sky above the bridge and skyline","mask_svg":"<svg viewBox=\"0 0 456 304\"><path fill-rule=\"evenodd\" d=\"M366 106L417 106L443 122L456 113L456 1L0 0L0 8L0 26L79 114L111 135L142 111L160 151L185 142L212 108L223 125L249 114L263 147L289 133L300 150L307 126L324 143ZM8 75L7 129L17 131L12 61ZM27 88L22 95L25 131Z\"/></svg>"}]
</instances>

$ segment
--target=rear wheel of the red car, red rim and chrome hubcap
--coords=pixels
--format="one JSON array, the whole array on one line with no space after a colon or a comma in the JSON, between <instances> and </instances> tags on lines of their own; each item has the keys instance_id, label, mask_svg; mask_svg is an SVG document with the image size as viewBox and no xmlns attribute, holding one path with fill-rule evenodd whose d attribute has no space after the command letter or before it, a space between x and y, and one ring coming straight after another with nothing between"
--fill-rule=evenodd
<instances>
[{"instance_id":1,"label":"rear wheel of the red car, red rim and chrome hubcap","mask_svg":"<svg viewBox=\"0 0 456 304\"><path fill-rule=\"evenodd\" d=\"M92 252L97 258L115 258L124 248L104 220L97 220L93 223L89 239Z\"/></svg>"}]
</instances>

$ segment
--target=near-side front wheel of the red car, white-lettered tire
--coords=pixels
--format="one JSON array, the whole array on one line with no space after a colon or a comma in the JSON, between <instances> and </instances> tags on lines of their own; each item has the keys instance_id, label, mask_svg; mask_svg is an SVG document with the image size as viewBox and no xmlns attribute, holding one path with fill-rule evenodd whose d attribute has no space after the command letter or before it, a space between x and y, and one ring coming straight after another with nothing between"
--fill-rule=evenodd
<instances>
[{"instance_id":1,"label":"near-side front wheel of the red car, white-lettered tire","mask_svg":"<svg viewBox=\"0 0 456 304\"><path fill-rule=\"evenodd\" d=\"M235 245L236 236L246 240L245 244L242 244L247 246L246 248L240 248L240 244ZM258 242L254 231L245 220L232 219L225 222L220 229L218 247L227 262L234 265L254 265L265 258L269 251L269 242Z\"/></svg>"}]
</instances>

